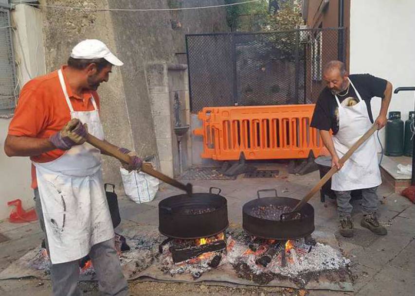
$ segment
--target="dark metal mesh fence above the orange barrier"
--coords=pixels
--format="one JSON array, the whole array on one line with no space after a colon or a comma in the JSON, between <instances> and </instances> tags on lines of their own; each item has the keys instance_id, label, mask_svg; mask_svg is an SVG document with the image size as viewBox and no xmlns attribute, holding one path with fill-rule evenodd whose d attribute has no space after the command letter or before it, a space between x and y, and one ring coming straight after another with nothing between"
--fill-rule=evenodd
<instances>
[{"instance_id":1,"label":"dark metal mesh fence above the orange barrier","mask_svg":"<svg viewBox=\"0 0 415 296\"><path fill-rule=\"evenodd\" d=\"M186 48L193 112L309 104L325 87L323 65L344 60L345 34L343 28L194 34L186 35Z\"/></svg>"}]
</instances>

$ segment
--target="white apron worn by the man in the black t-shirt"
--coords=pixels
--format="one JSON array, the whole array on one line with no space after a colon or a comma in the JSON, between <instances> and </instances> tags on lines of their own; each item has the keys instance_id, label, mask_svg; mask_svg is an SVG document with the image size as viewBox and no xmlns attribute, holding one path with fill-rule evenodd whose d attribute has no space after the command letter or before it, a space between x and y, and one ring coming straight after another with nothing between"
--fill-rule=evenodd
<instances>
[{"instance_id":1,"label":"white apron worn by the man in the black t-shirt","mask_svg":"<svg viewBox=\"0 0 415 296\"><path fill-rule=\"evenodd\" d=\"M366 103L361 99L356 87L350 81L359 102L350 107L339 106L339 132L333 136L334 148L341 158L371 127ZM373 134L346 160L342 169L331 177L331 189L349 191L379 186L382 183L376 152L376 139Z\"/></svg>"}]
</instances>

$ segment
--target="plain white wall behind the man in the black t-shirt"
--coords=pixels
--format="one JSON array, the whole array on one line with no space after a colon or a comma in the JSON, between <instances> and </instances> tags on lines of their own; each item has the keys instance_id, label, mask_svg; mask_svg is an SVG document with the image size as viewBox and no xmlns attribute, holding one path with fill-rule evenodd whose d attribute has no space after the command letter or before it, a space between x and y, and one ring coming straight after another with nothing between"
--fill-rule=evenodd
<instances>
[{"instance_id":1,"label":"plain white wall behind the man in the black t-shirt","mask_svg":"<svg viewBox=\"0 0 415 296\"><path fill-rule=\"evenodd\" d=\"M415 1L350 1L350 73L370 73L389 80L394 89L415 86ZM389 111L402 120L414 110L415 92L392 94ZM372 99L376 118L380 99ZM379 133L384 143L384 129Z\"/></svg>"}]
</instances>

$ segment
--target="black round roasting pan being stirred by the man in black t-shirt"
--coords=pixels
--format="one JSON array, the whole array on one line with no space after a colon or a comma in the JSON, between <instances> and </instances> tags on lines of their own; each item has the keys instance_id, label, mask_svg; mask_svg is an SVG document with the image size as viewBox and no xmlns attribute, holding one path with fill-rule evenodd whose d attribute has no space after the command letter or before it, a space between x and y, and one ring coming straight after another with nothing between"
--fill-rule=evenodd
<instances>
[{"instance_id":1,"label":"black round roasting pan being stirred by the man in black t-shirt","mask_svg":"<svg viewBox=\"0 0 415 296\"><path fill-rule=\"evenodd\" d=\"M274 196L260 198L260 192L273 192ZM246 232L264 239L292 240L306 237L314 231L314 209L310 204L304 205L298 211L281 215L279 221L255 217L252 209L257 206L294 208L299 203L298 199L278 196L275 189L260 190L257 193L258 198L247 202L242 209L242 227Z\"/></svg>"}]
</instances>

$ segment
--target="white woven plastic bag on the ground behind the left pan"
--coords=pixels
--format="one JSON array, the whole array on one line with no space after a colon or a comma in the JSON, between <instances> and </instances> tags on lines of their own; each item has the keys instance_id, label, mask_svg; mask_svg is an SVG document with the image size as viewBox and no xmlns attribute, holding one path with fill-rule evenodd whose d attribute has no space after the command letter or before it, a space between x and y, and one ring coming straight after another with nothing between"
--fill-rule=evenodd
<instances>
[{"instance_id":1,"label":"white woven plastic bag on the ground behind the left pan","mask_svg":"<svg viewBox=\"0 0 415 296\"><path fill-rule=\"evenodd\" d=\"M120 168L126 195L135 203L142 204L150 202L159 190L159 179L143 172L128 172Z\"/></svg>"}]
</instances>

